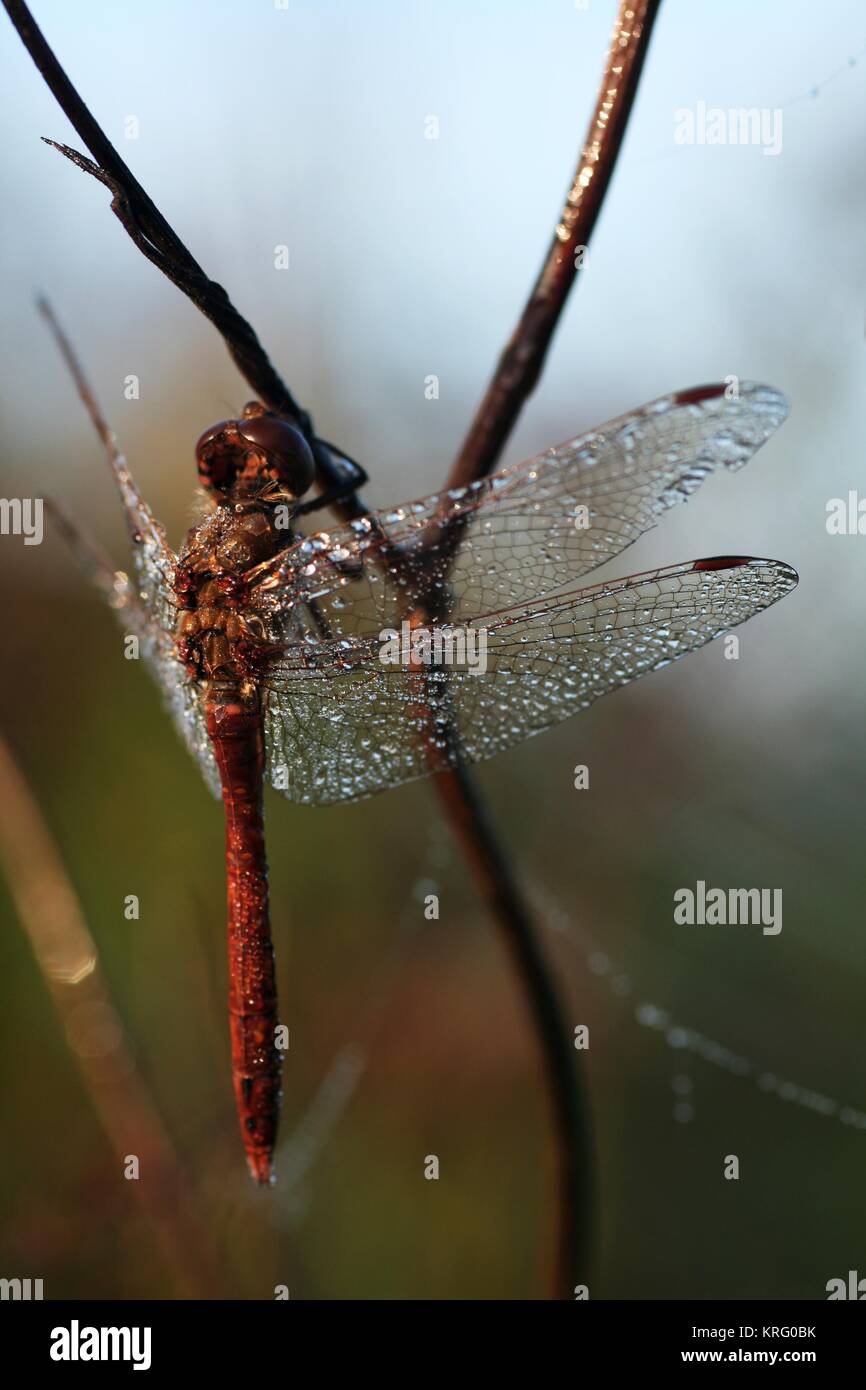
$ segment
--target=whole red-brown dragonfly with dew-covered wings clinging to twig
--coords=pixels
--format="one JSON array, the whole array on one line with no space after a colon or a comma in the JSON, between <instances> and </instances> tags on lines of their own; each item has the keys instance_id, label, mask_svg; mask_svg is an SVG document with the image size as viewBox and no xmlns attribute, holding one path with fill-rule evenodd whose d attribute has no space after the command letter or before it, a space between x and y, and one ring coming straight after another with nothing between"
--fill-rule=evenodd
<instances>
[{"instance_id":1,"label":"whole red-brown dragonfly with dew-covered wings clinging to twig","mask_svg":"<svg viewBox=\"0 0 866 1390\"><path fill-rule=\"evenodd\" d=\"M108 448L135 580L58 524L225 809L234 1093L249 1170L268 1184L284 1048L265 785L325 806L478 763L790 594L790 564L741 555L575 587L714 470L746 463L787 400L752 382L680 391L467 486L311 534L303 518L329 499L309 498L310 446L250 402L196 445L204 510L175 553L61 349ZM403 624L484 635L484 670L413 641L385 662Z\"/></svg>"}]
</instances>

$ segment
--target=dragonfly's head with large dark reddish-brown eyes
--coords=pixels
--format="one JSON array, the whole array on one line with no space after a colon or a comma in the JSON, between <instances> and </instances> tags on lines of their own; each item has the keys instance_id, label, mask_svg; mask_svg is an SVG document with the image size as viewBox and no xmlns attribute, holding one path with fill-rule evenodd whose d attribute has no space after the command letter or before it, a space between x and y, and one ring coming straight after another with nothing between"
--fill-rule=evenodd
<instances>
[{"instance_id":1,"label":"dragonfly's head with large dark reddish-brown eyes","mask_svg":"<svg viewBox=\"0 0 866 1390\"><path fill-rule=\"evenodd\" d=\"M196 445L199 481L213 493L253 496L270 482L300 498L313 482L316 464L300 430L265 410L257 400L240 420L221 420Z\"/></svg>"}]
</instances>

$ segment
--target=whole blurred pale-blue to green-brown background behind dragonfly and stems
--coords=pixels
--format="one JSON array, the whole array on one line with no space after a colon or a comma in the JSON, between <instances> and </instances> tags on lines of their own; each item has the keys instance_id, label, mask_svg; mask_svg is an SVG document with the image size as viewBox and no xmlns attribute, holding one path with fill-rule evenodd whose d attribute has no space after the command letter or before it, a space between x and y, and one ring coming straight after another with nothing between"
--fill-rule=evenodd
<instances>
[{"instance_id":1,"label":"whole blurred pale-blue to green-brown background behind dragonfly and stems","mask_svg":"<svg viewBox=\"0 0 866 1390\"><path fill-rule=\"evenodd\" d=\"M546 246L613 6L40 0L35 14L320 431L367 464L370 500L432 491ZM712 480L614 570L767 555L796 566L795 595L741 630L738 662L714 644L480 770L570 1019L589 1024L592 1297L820 1298L866 1261L866 541L824 527L827 499L866 488L862 21L841 0L669 0L587 271L507 453L728 373L792 399L745 473ZM125 566L33 292L54 302L177 543L195 439L249 392L106 192L39 143L79 142L8 24L0 56L0 489L57 496ZM699 100L781 107L783 152L676 146L674 110ZM220 806L60 542L3 537L0 570L1 731L211 1247L210 1280L190 1290L183 1248L167 1255L122 1179L0 884L0 1275L78 1298L270 1298L275 1284L537 1297L552 1222L542 1079L432 788L332 810L268 802L291 1051L282 1182L256 1191L231 1097ZM575 763L588 791L573 790ZM676 926L673 892L698 878L781 887L781 935ZM135 1133L121 1144L136 1152ZM439 1182L424 1180L427 1154Z\"/></svg>"}]
</instances>

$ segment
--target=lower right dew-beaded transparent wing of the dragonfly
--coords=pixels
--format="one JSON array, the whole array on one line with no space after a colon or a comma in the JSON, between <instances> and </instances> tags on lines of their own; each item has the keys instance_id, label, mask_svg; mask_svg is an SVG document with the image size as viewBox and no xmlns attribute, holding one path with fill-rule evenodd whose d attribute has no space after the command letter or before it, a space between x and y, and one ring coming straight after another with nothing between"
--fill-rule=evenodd
<instances>
[{"instance_id":1,"label":"lower right dew-beaded transparent wing of the dragonfly","mask_svg":"<svg viewBox=\"0 0 866 1390\"><path fill-rule=\"evenodd\" d=\"M503 609L473 624L487 670L384 666L377 638L335 639L263 682L268 777L289 799L370 796L475 763L696 651L788 594L777 560L724 557Z\"/></svg>"}]
</instances>

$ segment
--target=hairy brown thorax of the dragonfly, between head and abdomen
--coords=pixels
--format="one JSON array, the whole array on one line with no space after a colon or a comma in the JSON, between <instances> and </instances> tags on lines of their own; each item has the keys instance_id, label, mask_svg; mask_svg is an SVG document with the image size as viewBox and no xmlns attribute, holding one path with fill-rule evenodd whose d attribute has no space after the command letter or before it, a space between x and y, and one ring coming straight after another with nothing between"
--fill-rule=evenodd
<instances>
[{"instance_id":1,"label":"hairy brown thorax of the dragonfly, between head and abdomen","mask_svg":"<svg viewBox=\"0 0 866 1390\"><path fill-rule=\"evenodd\" d=\"M175 575L175 644L192 677L232 684L256 677L272 646L250 607L249 584L288 539L274 510L257 502L218 506L190 530Z\"/></svg>"}]
</instances>

